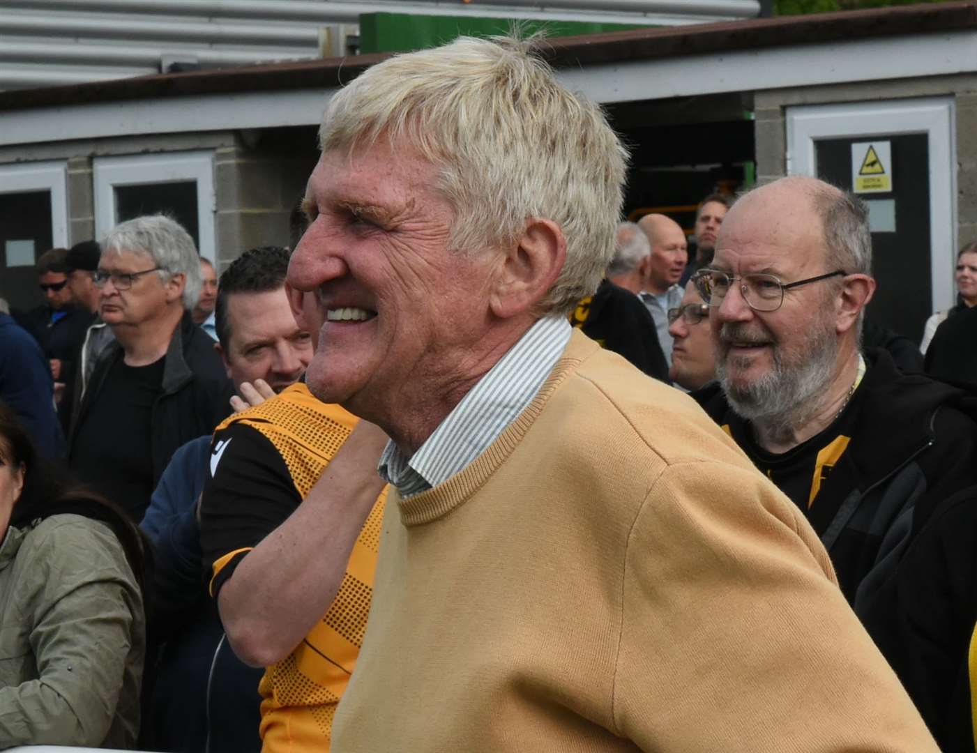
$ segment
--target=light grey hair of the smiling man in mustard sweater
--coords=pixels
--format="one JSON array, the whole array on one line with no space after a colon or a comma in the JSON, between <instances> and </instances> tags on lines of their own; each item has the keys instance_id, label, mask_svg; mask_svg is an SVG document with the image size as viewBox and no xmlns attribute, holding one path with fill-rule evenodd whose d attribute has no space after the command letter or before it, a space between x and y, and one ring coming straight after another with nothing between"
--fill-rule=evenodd
<instances>
[{"instance_id":1,"label":"light grey hair of the smiling man in mustard sweater","mask_svg":"<svg viewBox=\"0 0 977 753\"><path fill-rule=\"evenodd\" d=\"M379 139L440 170L457 252L514 242L530 218L563 230L567 258L536 313L564 314L614 254L627 153L598 105L561 86L533 39L460 37L373 65L329 102L322 151Z\"/></svg>"}]
</instances>

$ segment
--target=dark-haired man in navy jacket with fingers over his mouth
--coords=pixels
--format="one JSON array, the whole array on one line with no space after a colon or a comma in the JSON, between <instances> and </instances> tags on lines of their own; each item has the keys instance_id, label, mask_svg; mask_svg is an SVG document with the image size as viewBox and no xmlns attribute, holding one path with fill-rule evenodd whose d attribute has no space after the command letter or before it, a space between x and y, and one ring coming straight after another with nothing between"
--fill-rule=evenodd
<instances>
[{"instance_id":1,"label":"dark-haired man in navy jacket with fingers over his mouth","mask_svg":"<svg viewBox=\"0 0 977 753\"><path fill-rule=\"evenodd\" d=\"M297 382L313 355L312 338L288 306L286 272L287 249L255 248L234 260L217 288L220 342L214 348L234 389L254 404ZM232 402L236 409L249 406L237 396ZM212 753L257 753L263 671L243 665L221 641L217 607L200 582L195 507L210 476L210 444L208 433L174 453L140 523L156 545L158 613L166 640L147 724L163 750L202 750L209 739Z\"/></svg>"}]
</instances>

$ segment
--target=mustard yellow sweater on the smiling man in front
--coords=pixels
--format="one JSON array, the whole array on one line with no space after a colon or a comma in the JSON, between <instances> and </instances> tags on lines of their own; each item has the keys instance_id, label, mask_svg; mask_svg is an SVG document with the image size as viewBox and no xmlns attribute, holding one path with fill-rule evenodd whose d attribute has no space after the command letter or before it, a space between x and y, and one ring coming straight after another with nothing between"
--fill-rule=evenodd
<instances>
[{"instance_id":1,"label":"mustard yellow sweater on the smiling man in front","mask_svg":"<svg viewBox=\"0 0 977 753\"><path fill-rule=\"evenodd\" d=\"M468 468L392 492L333 751L936 751L794 505L574 332Z\"/></svg>"}]
</instances>

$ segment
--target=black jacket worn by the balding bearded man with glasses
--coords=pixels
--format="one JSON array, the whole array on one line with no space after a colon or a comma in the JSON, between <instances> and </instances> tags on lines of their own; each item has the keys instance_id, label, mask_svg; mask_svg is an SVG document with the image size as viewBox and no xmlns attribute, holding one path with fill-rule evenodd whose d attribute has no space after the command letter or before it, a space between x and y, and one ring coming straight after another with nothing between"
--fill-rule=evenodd
<instances>
[{"instance_id":1,"label":"black jacket worn by the balding bearded man with glasses","mask_svg":"<svg viewBox=\"0 0 977 753\"><path fill-rule=\"evenodd\" d=\"M977 616L977 547L955 541L977 539L977 394L901 374L885 351L866 359L851 441L805 513L941 747L955 732L973 750L959 693L968 693L960 678ZM720 425L739 420L718 385L695 397Z\"/></svg>"}]
</instances>

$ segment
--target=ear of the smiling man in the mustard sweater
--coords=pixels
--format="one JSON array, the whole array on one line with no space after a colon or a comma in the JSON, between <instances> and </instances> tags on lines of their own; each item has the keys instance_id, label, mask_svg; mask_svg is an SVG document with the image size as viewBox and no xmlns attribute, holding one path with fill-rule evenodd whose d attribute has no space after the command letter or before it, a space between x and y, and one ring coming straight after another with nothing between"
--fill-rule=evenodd
<instances>
[{"instance_id":1,"label":"ear of the smiling man in the mustard sweater","mask_svg":"<svg viewBox=\"0 0 977 753\"><path fill-rule=\"evenodd\" d=\"M552 220L531 218L505 249L488 299L492 314L508 318L530 312L549 292L567 260L567 239Z\"/></svg>"}]
</instances>

